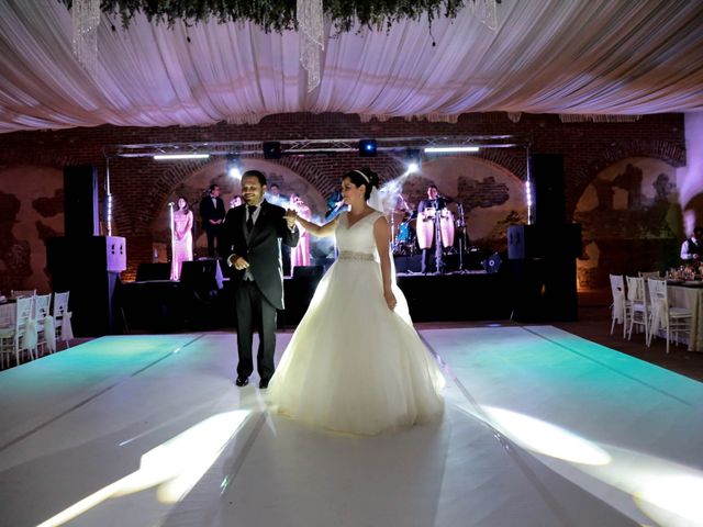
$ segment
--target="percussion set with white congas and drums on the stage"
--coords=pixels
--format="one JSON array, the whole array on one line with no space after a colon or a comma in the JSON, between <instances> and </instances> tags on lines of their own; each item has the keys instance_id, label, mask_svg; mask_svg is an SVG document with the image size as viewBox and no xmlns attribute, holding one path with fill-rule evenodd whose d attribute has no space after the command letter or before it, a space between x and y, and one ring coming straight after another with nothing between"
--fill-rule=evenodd
<instances>
[{"instance_id":1,"label":"percussion set with white congas and drums on the stage","mask_svg":"<svg viewBox=\"0 0 703 527\"><path fill-rule=\"evenodd\" d=\"M449 208L426 208L422 212L411 210L408 204L389 214L391 248L393 255L408 256L428 249L439 239L445 253L459 253L459 269L464 269L462 254L467 248L464 205L456 205L456 214ZM454 208L454 206L453 206Z\"/></svg>"}]
</instances>

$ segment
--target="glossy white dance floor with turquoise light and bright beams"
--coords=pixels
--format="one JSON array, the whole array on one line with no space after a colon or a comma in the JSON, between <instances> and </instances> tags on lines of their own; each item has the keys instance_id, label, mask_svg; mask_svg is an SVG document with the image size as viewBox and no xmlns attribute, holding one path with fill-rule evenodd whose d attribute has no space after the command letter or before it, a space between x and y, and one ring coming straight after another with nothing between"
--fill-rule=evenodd
<instances>
[{"instance_id":1,"label":"glossy white dance floor with turquoise light and bright beams","mask_svg":"<svg viewBox=\"0 0 703 527\"><path fill-rule=\"evenodd\" d=\"M1 372L0 525L703 525L703 384L550 326L421 334L444 419L372 438L270 415L228 333Z\"/></svg>"}]
</instances>

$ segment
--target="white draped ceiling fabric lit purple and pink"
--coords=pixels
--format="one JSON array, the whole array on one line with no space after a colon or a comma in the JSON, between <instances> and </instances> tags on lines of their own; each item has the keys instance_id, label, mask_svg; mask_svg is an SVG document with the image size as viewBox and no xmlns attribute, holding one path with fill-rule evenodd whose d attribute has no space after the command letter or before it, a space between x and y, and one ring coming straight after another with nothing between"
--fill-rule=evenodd
<instances>
[{"instance_id":1,"label":"white draped ceiling fabric lit purple and pink","mask_svg":"<svg viewBox=\"0 0 703 527\"><path fill-rule=\"evenodd\" d=\"M339 35L327 23L321 85L308 92L294 32L215 22L169 30L142 15L129 30L115 18L111 31L103 15L88 74L71 53L64 4L0 0L0 133L256 123L305 111L453 121L703 110L701 1L502 0L498 21L491 31L465 10L432 29L421 20Z\"/></svg>"}]
</instances>

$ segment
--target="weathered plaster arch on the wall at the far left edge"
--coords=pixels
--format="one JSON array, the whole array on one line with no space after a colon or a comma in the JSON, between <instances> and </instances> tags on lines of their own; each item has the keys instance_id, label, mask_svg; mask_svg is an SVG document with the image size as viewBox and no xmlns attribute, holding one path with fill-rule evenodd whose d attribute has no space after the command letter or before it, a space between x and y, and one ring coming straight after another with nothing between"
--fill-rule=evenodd
<instances>
[{"instance_id":1,"label":"weathered plaster arch on the wall at the far left edge","mask_svg":"<svg viewBox=\"0 0 703 527\"><path fill-rule=\"evenodd\" d=\"M48 293L44 240L64 233L63 172L15 166L0 169L0 291Z\"/></svg>"}]
</instances>

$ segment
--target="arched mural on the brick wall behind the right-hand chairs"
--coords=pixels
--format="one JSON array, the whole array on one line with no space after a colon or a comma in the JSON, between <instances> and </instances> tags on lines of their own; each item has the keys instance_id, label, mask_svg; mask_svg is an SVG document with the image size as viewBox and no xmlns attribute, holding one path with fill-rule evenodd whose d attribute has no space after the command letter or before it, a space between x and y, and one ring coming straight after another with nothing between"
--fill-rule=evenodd
<instances>
[{"instance_id":1,"label":"arched mural on the brick wall behind the right-hand chairs","mask_svg":"<svg viewBox=\"0 0 703 527\"><path fill-rule=\"evenodd\" d=\"M676 169L659 159L623 159L600 172L579 199L582 288L602 288L609 273L636 274L678 264L682 234Z\"/></svg>"}]
</instances>

